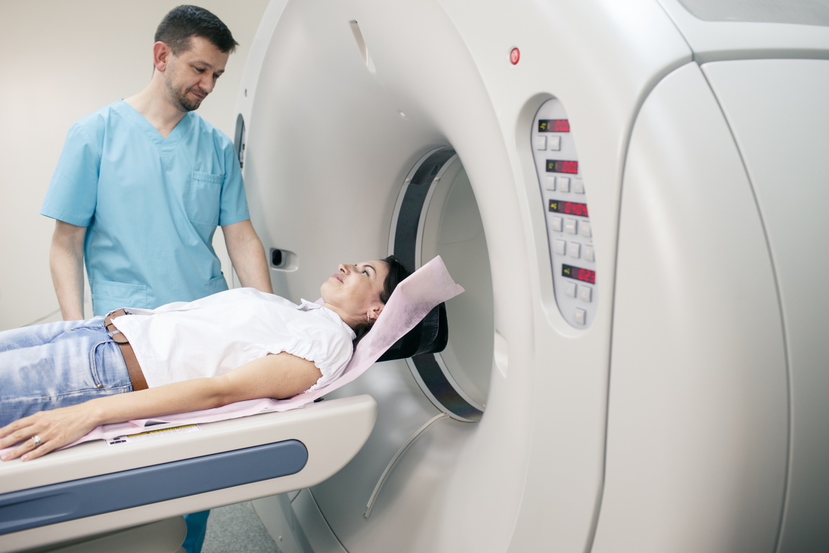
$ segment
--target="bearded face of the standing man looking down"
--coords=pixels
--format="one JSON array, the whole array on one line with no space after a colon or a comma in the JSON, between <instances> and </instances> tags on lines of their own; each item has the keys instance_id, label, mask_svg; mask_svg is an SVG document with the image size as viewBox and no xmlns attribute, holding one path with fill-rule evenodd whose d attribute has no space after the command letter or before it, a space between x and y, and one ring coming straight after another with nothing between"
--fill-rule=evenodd
<instances>
[{"instance_id":1,"label":"bearded face of the standing man looking down","mask_svg":"<svg viewBox=\"0 0 829 553\"><path fill-rule=\"evenodd\" d=\"M164 70L164 88L167 99L181 111L198 109L216 86L216 80L225 72L230 53L220 51L211 41L201 36L190 37L190 48L178 56L170 52L170 61Z\"/></svg>"}]
</instances>

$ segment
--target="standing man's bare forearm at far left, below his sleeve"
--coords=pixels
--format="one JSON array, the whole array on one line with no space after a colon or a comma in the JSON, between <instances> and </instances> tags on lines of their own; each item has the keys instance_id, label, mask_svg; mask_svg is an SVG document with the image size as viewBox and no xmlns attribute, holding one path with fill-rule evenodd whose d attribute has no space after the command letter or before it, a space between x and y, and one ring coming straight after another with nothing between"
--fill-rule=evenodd
<instances>
[{"instance_id":1,"label":"standing man's bare forearm at far left, below his sleeve","mask_svg":"<svg viewBox=\"0 0 829 553\"><path fill-rule=\"evenodd\" d=\"M84 238L85 226L55 221L49 266L57 303L65 321L84 318Z\"/></svg>"}]
</instances>

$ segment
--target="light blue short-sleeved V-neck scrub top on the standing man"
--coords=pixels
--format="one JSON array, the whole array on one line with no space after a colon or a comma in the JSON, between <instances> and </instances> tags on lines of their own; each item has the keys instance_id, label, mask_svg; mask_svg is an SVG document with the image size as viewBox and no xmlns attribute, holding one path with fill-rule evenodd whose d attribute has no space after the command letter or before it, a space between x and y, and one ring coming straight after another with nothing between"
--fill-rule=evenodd
<instances>
[{"instance_id":1,"label":"light blue short-sleeved V-neck scrub top on the standing man","mask_svg":"<svg viewBox=\"0 0 829 553\"><path fill-rule=\"evenodd\" d=\"M162 138L123 100L72 126L41 214L88 227L95 315L226 290L213 234L250 219L225 133L189 112Z\"/></svg>"}]
</instances>

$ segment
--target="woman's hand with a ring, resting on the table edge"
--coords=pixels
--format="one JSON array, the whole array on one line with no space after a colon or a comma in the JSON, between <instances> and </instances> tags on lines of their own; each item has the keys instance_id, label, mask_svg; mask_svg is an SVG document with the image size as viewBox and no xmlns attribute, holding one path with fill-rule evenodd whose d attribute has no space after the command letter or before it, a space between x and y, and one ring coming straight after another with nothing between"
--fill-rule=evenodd
<instances>
[{"instance_id":1,"label":"woman's hand with a ring, resting on the table edge","mask_svg":"<svg viewBox=\"0 0 829 553\"><path fill-rule=\"evenodd\" d=\"M2 427L0 449L22 442L2 454L2 460L10 461L22 456L23 461L28 461L71 444L98 425L93 411L94 408L88 403L72 405L41 411Z\"/></svg>"}]
</instances>

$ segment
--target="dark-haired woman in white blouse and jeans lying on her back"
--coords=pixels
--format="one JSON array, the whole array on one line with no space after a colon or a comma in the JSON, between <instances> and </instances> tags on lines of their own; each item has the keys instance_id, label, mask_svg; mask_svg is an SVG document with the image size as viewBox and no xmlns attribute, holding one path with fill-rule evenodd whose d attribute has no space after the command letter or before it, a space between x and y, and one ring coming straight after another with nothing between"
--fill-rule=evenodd
<instances>
[{"instance_id":1,"label":"dark-haired woman in white blouse and jeans lying on her back","mask_svg":"<svg viewBox=\"0 0 829 553\"><path fill-rule=\"evenodd\" d=\"M390 256L341 264L322 306L232 289L0 332L0 449L22 442L2 460L41 457L101 424L324 386L408 274Z\"/></svg>"}]
</instances>

